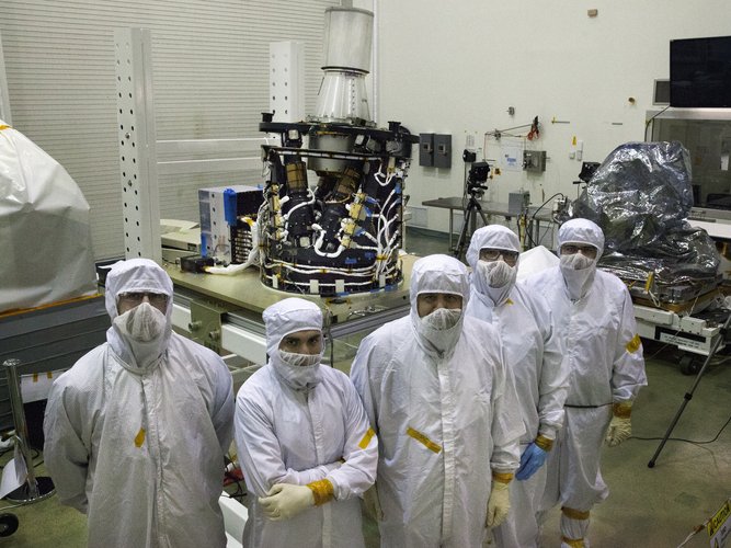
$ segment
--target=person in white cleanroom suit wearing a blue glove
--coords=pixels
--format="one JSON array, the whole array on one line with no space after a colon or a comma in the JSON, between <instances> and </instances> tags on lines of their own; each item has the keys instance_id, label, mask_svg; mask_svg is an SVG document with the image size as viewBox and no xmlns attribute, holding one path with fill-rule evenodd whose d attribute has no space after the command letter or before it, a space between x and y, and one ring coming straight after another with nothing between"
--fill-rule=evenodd
<instances>
[{"instance_id":1,"label":"person in white cleanroom suit wearing a blue glove","mask_svg":"<svg viewBox=\"0 0 731 548\"><path fill-rule=\"evenodd\" d=\"M538 543L544 463L563 424L569 368L548 305L515 283L519 251L518 238L510 228L490 225L475 231L467 250L472 275L465 313L498 330L505 364L515 378L526 433L521 439L517 481L511 482L511 512L493 535L499 547L528 548Z\"/></svg>"}]
</instances>

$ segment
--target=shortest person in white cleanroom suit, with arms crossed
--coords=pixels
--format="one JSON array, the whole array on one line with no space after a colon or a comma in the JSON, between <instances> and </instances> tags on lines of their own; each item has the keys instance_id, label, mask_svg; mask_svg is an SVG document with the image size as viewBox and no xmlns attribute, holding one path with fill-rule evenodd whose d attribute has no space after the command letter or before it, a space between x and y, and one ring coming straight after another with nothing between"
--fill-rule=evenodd
<instances>
[{"instance_id":1,"label":"shortest person in white cleanroom suit, with arms crossed","mask_svg":"<svg viewBox=\"0 0 731 548\"><path fill-rule=\"evenodd\" d=\"M263 313L267 364L237 396L236 444L253 500L249 547L364 546L359 496L378 439L347 376L320 364L322 312L287 298Z\"/></svg>"}]
</instances>

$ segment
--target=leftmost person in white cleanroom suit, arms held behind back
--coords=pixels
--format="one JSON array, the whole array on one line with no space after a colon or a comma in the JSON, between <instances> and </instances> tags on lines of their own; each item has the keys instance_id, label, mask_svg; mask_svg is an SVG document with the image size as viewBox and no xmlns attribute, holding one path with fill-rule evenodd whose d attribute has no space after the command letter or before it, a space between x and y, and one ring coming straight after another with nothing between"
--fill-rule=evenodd
<instances>
[{"instance_id":1,"label":"leftmost person in white cleanroom suit, arms held behind back","mask_svg":"<svg viewBox=\"0 0 731 548\"><path fill-rule=\"evenodd\" d=\"M233 437L231 374L172 332L172 281L155 262L106 276L106 343L53 385L44 458L89 546L226 546L218 505Z\"/></svg>"}]
</instances>

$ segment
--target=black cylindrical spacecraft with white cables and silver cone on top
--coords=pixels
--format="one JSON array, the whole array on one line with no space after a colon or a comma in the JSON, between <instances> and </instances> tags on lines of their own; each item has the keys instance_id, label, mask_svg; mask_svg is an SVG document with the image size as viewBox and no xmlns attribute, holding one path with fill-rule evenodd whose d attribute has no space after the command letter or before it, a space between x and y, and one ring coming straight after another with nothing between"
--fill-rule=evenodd
<instances>
[{"instance_id":1,"label":"black cylindrical spacecraft with white cables and silver cone on top","mask_svg":"<svg viewBox=\"0 0 731 548\"><path fill-rule=\"evenodd\" d=\"M378 128L370 119L372 35L372 12L328 8L315 114L296 123L263 114L260 130L281 136L281 146L262 147L266 286L335 296L387 290L402 279L403 181L419 138L399 122Z\"/></svg>"}]
</instances>

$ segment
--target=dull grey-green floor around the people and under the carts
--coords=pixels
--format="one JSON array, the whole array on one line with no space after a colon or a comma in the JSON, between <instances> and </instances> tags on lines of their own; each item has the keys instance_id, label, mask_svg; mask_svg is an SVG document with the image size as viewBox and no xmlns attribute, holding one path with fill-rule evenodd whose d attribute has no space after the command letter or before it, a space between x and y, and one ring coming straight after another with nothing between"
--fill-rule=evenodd
<instances>
[{"instance_id":1,"label":"dull grey-green floor around the people and under the carts","mask_svg":"<svg viewBox=\"0 0 731 548\"><path fill-rule=\"evenodd\" d=\"M407 250L419 254L446 253L446 237L410 230ZM660 438L693 390L696 377L679 372L674 347L646 343L649 386L640 393L632 412L633 437L603 455L603 473L609 498L592 513L590 539L594 548L675 547L731 496L731 425L712 439L731 415L731 356L715 358L693 391L693 399L656 459L648 468ZM653 439L641 439L653 438ZM10 454L3 456L7 461ZM42 456L36 459L39 461ZM41 464L37 473L43 475ZM8 501L0 502L0 509ZM20 520L19 530L0 538L0 546L65 548L84 546L84 517L66 509L53 496L11 510ZM546 547L558 547L558 510L544 528ZM366 524L374 546L373 524ZM705 530L686 546L709 546Z\"/></svg>"}]
</instances>

